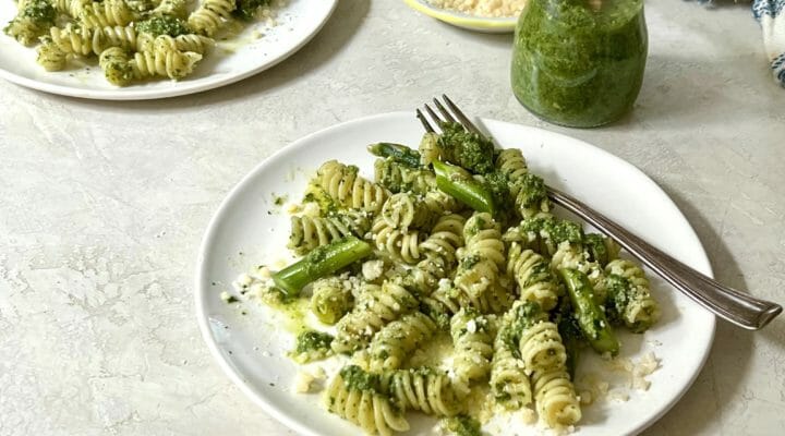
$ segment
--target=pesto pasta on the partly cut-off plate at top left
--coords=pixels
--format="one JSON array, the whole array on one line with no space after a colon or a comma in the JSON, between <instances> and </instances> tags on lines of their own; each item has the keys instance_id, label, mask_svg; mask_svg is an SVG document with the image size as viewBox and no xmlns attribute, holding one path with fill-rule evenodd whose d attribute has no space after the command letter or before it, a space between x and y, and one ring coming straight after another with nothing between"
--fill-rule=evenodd
<instances>
[{"instance_id":1,"label":"pesto pasta on the partly cut-off plate at top left","mask_svg":"<svg viewBox=\"0 0 785 436\"><path fill-rule=\"evenodd\" d=\"M214 37L230 40L264 20L265 27L273 26L267 19L286 1L19 0L3 32L37 46L36 61L47 72L97 62L110 84L130 86L185 78L216 45Z\"/></svg>"}]
</instances>

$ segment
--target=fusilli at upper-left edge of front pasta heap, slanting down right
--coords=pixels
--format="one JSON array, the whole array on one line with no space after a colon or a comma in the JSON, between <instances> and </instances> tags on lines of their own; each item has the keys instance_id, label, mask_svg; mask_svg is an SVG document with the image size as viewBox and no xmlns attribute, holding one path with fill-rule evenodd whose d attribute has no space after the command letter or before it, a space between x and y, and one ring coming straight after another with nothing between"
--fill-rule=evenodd
<instances>
[{"instance_id":1,"label":"fusilli at upper-left edge of front pasta heap, slanting down right","mask_svg":"<svg viewBox=\"0 0 785 436\"><path fill-rule=\"evenodd\" d=\"M317 171L317 183L341 206L378 214L388 193L358 172L358 167L328 160Z\"/></svg>"}]
</instances>

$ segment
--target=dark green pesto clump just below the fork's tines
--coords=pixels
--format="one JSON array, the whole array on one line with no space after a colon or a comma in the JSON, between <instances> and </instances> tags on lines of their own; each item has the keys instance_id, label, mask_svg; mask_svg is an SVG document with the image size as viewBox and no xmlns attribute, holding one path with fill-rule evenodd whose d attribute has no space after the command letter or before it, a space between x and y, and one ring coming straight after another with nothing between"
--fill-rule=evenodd
<instances>
[{"instance_id":1,"label":"dark green pesto clump just below the fork's tines","mask_svg":"<svg viewBox=\"0 0 785 436\"><path fill-rule=\"evenodd\" d=\"M442 124L438 138L442 158L475 173L485 174L494 170L494 145L487 138L467 132L458 123Z\"/></svg>"}]
</instances>

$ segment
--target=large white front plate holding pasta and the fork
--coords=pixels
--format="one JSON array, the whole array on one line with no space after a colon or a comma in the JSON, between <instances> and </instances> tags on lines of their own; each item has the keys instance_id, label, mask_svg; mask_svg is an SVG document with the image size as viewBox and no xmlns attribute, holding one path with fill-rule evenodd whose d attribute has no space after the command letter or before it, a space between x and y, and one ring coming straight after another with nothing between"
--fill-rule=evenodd
<instances>
[{"instance_id":1,"label":"large white front plate holding pasta and the fork","mask_svg":"<svg viewBox=\"0 0 785 436\"><path fill-rule=\"evenodd\" d=\"M520 147L533 171L592 207L635 230L643 239L704 274L705 253L690 225L665 193L643 172L583 142L544 130L485 120L505 147ZM196 315L212 353L234 383L267 413L305 435L360 435L330 415L318 395L297 395L298 372L287 356L292 338L268 307L247 305L241 315L224 303L221 290L238 274L259 262L283 257L289 219L273 197L301 197L309 173L327 159L360 166L373 174L367 144L386 141L416 144L421 126L413 113L388 113L339 124L306 136L261 164L221 204L204 238L196 274ZM644 335L620 331L621 356L637 359L653 351L662 367L649 376L648 391L632 390L629 401L600 402L584 408L581 435L633 434L662 416L689 388L709 353L714 316L652 277L662 320ZM583 359L579 373L594 371L599 359ZM580 376L578 377L580 379ZM319 411L315 411L319 408ZM410 414L412 415L412 414ZM434 424L412 420L412 434ZM533 427L493 427L509 435L536 434Z\"/></svg>"}]
</instances>

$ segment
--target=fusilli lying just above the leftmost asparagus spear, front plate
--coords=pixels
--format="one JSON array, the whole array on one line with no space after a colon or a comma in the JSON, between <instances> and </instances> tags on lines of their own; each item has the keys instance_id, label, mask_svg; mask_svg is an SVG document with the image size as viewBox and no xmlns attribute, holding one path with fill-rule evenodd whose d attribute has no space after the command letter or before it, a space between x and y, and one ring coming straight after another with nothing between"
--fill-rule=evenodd
<instances>
[{"instance_id":1,"label":"fusilli lying just above the leftmost asparagus spear, front plate","mask_svg":"<svg viewBox=\"0 0 785 436\"><path fill-rule=\"evenodd\" d=\"M326 217L292 216L287 246L302 255L341 238L362 238L370 228L367 215L361 210L342 210Z\"/></svg>"}]
</instances>

